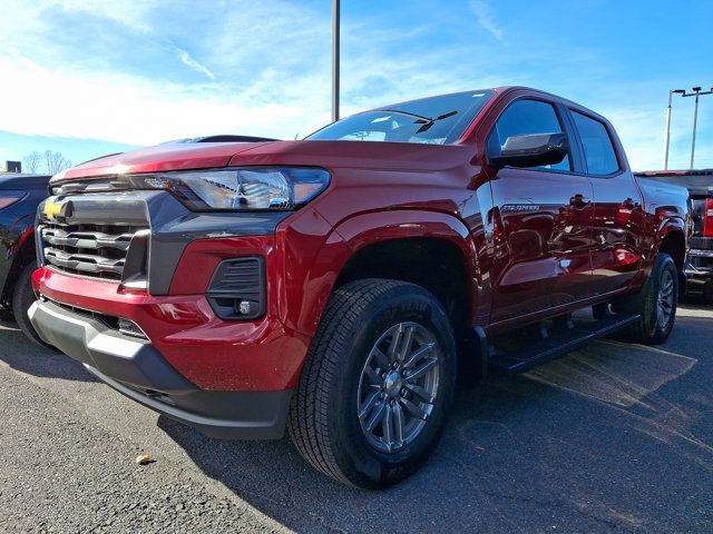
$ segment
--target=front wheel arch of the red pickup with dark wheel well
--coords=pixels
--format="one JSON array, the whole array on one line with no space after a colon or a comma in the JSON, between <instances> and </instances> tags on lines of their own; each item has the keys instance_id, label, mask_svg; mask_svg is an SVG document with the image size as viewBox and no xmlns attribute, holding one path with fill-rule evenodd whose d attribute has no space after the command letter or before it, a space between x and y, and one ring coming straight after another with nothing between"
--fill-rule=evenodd
<instances>
[{"instance_id":1,"label":"front wheel arch of the red pickup with dark wheel well","mask_svg":"<svg viewBox=\"0 0 713 534\"><path fill-rule=\"evenodd\" d=\"M331 256L326 265L320 260L325 256ZM423 210L356 215L332 229L315 258L297 330L314 335L335 288L360 278L389 278L431 291L448 313L459 347L470 342L480 271L475 243L457 217Z\"/></svg>"}]
</instances>

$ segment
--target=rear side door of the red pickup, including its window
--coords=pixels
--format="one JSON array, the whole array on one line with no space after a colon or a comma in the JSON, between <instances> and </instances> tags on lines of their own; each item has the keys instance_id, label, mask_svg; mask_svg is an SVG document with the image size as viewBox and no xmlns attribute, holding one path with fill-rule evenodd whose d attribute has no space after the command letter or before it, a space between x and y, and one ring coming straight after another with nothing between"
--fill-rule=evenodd
<instances>
[{"instance_id":1,"label":"rear side door of the red pickup, including its window","mask_svg":"<svg viewBox=\"0 0 713 534\"><path fill-rule=\"evenodd\" d=\"M569 111L594 187L592 281L597 293L623 289L642 265L643 197L611 125L585 110Z\"/></svg>"}]
</instances>

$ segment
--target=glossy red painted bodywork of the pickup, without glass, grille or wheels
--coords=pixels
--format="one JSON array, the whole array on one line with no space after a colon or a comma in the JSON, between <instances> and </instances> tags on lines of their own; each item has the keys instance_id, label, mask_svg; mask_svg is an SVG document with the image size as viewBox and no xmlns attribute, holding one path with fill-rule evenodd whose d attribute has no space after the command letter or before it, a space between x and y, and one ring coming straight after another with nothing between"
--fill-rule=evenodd
<instances>
[{"instance_id":1,"label":"glossy red painted bodywork of the pickup, without glass, grille or wheels","mask_svg":"<svg viewBox=\"0 0 713 534\"><path fill-rule=\"evenodd\" d=\"M616 176L594 178L577 168L496 171L486 160L486 140L499 113L519 98L590 113L540 91L499 89L456 145L174 145L76 167L60 179L117 169L287 165L325 168L332 181L274 236L188 245L168 296L120 293L114 284L49 269L36 273L36 288L60 303L135 320L180 374L201 388L225 390L294 387L340 273L355 253L385 240L429 237L455 244L467 271L469 324L490 330L636 290L663 237L686 235L685 198L649 196L639 187L604 119L618 152ZM574 145L572 150L579 165L583 155ZM586 201L573 204L578 197ZM204 294L222 259L244 255L265 257L267 314L253 323L223 322Z\"/></svg>"}]
</instances>

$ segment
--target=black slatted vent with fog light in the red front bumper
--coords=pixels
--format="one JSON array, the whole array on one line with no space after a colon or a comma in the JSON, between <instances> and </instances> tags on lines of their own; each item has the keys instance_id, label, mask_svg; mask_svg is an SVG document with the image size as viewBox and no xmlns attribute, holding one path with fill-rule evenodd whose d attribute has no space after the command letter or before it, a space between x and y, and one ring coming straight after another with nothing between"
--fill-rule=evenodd
<instances>
[{"instance_id":1,"label":"black slatted vent with fog light in the red front bumper","mask_svg":"<svg viewBox=\"0 0 713 534\"><path fill-rule=\"evenodd\" d=\"M265 314L265 266L260 256L226 259L213 274L208 301L218 317L253 320Z\"/></svg>"}]
</instances>

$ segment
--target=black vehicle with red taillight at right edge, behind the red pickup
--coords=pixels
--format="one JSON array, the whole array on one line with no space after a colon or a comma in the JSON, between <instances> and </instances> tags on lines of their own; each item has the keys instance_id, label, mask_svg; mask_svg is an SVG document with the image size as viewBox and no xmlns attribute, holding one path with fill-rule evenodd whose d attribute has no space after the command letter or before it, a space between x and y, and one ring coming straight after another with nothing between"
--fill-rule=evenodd
<instances>
[{"instance_id":1,"label":"black vehicle with red taillight at right edge, behind the red pickup","mask_svg":"<svg viewBox=\"0 0 713 534\"><path fill-rule=\"evenodd\" d=\"M693 234L685 274L691 293L701 293L705 303L713 305L713 169L652 170L637 175L688 189Z\"/></svg>"}]
</instances>

